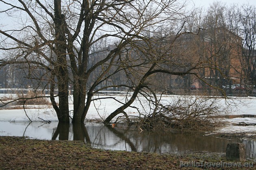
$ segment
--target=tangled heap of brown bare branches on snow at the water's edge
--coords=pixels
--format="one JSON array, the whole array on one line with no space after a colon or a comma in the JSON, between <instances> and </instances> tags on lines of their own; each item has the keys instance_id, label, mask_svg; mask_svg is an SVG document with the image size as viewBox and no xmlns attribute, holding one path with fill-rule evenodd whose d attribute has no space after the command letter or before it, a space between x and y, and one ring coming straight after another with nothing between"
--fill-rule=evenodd
<instances>
[{"instance_id":1,"label":"tangled heap of brown bare branches on snow at the water's edge","mask_svg":"<svg viewBox=\"0 0 256 170\"><path fill-rule=\"evenodd\" d=\"M217 98L179 96L169 103L158 103L153 113L141 117L142 130L212 130L219 125L219 115L227 108Z\"/></svg>"}]
</instances>

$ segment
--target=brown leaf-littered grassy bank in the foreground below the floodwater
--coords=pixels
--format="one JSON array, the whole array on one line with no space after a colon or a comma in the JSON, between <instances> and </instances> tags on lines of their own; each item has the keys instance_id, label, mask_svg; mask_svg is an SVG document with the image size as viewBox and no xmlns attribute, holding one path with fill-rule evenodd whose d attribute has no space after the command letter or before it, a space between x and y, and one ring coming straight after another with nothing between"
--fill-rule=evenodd
<instances>
[{"instance_id":1,"label":"brown leaf-littered grassy bank in the foreground below the floodwater","mask_svg":"<svg viewBox=\"0 0 256 170\"><path fill-rule=\"evenodd\" d=\"M224 166L225 163L231 163L232 166ZM234 161L227 161L225 154L219 153L159 155L92 149L81 141L36 140L0 136L0 169L169 170L179 169L180 166L188 166L182 169L191 169L194 168L193 166L198 166L198 169L233 169L234 163ZM216 168L216 166L219 167ZM254 169L254 167L250 167L250 169Z\"/></svg>"}]
</instances>

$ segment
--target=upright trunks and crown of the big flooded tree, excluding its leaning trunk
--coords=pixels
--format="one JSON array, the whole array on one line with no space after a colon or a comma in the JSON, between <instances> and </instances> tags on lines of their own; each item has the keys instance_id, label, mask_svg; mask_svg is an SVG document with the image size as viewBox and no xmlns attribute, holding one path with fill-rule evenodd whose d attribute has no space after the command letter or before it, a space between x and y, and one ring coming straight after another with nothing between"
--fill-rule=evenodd
<instances>
[{"instance_id":1,"label":"upright trunks and crown of the big flooded tree, excluding its leaning trunk","mask_svg":"<svg viewBox=\"0 0 256 170\"><path fill-rule=\"evenodd\" d=\"M1 2L9 6L1 13L7 13L17 21L16 28L2 27L0 30L1 50L8 53L8 57L1 59L1 67L24 64L23 68L29 70L26 78L48 80L52 106L62 122L69 122L69 82L74 90L72 121L83 122L95 88L124 70L121 67L126 61L121 61L120 56L127 51L125 47L133 48L135 40L147 43L149 37L143 32L153 32L174 18L184 17L183 4L176 0ZM22 19L15 18L18 14ZM106 49L101 58L93 60L92 47L102 39L114 40L115 45ZM150 65L156 64L150 63L149 69ZM32 68L44 72L36 77L30 74L34 73ZM98 68L100 72L89 84ZM141 85L137 86L137 90L141 89ZM55 89L58 90L59 104L55 101Z\"/></svg>"}]
</instances>

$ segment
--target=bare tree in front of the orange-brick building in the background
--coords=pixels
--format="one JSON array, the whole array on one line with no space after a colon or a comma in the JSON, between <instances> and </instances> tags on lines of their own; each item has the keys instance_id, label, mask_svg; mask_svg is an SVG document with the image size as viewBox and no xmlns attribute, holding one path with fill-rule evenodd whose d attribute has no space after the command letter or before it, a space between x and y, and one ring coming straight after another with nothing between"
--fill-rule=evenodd
<instances>
[{"instance_id":1,"label":"bare tree in front of the orange-brick building in the background","mask_svg":"<svg viewBox=\"0 0 256 170\"><path fill-rule=\"evenodd\" d=\"M226 6L220 2L214 2L207 11L204 18L205 29L201 33L201 40L204 41L204 58L208 60L208 68L203 70L210 85L222 88L223 85L230 85L232 81L240 82L241 60L240 46L241 38L231 32L226 19Z\"/></svg>"}]
</instances>

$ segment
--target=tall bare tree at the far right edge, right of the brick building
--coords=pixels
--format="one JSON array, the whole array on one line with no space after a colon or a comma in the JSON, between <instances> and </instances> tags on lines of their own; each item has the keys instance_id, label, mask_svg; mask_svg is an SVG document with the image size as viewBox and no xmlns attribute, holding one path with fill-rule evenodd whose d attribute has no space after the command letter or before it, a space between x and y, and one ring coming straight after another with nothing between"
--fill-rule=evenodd
<instances>
[{"instance_id":1,"label":"tall bare tree at the far right edge, right of the brick building","mask_svg":"<svg viewBox=\"0 0 256 170\"><path fill-rule=\"evenodd\" d=\"M256 83L256 8L249 4L231 6L228 12L229 27L241 39L241 80L248 90Z\"/></svg>"}]
</instances>

